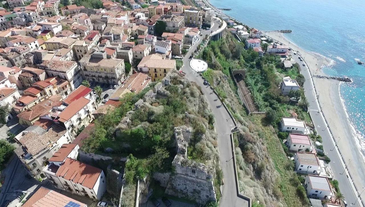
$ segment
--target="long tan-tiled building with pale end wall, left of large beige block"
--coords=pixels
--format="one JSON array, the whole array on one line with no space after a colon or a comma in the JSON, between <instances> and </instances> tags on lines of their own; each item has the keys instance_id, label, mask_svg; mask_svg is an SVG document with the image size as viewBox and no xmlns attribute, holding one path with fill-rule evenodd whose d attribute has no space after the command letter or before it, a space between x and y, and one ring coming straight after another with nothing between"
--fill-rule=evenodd
<instances>
[{"instance_id":1,"label":"long tan-tiled building with pale end wall, left of large beige block","mask_svg":"<svg viewBox=\"0 0 365 207\"><path fill-rule=\"evenodd\" d=\"M67 80L70 83L71 90L75 90L81 85L80 68L74 61L44 60L37 67L45 70L48 77L59 77Z\"/></svg>"}]
</instances>

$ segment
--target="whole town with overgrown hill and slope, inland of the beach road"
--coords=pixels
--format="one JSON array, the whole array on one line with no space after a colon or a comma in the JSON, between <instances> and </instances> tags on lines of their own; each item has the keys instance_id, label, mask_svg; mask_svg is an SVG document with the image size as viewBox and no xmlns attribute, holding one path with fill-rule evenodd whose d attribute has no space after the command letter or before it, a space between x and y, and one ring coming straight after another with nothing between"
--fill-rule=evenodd
<instances>
[{"instance_id":1,"label":"whole town with overgrown hill and slope, inland of the beach road","mask_svg":"<svg viewBox=\"0 0 365 207\"><path fill-rule=\"evenodd\" d=\"M2 6L0 206L343 204L288 45L205 1Z\"/></svg>"}]
</instances>

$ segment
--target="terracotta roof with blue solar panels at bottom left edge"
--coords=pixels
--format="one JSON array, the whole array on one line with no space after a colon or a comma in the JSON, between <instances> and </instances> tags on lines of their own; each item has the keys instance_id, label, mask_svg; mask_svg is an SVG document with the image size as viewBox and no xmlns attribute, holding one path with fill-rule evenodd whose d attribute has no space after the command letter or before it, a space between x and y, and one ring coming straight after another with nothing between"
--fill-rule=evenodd
<instances>
[{"instance_id":1,"label":"terracotta roof with blue solar panels at bottom left edge","mask_svg":"<svg viewBox=\"0 0 365 207\"><path fill-rule=\"evenodd\" d=\"M28 200L23 204L23 207L64 207L70 201L80 204L80 207L87 205L77 200L59 194L45 187L40 187Z\"/></svg>"}]
</instances>

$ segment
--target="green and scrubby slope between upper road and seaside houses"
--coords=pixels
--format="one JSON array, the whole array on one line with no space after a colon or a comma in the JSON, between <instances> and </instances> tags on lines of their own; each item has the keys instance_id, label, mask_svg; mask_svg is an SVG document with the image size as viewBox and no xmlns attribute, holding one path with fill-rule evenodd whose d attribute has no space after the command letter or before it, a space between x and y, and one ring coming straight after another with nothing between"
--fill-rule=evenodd
<instances>
[{"instance_id":1,"label":"green and scrubby slope between upper road and seaside houses","mask_svg":"<svg viewBox=\"0 0 365 207\"><path fill-rule=\"evenodd\" d=\"M302 109L288 105L289 97L274 90L280 80L276 69L280 66L277 57L258 57L257 52L243 47L243 43L238 43L228 34L221 40L211 41L200 54L210 67L204 72L204 77L225 99L239 122L241 132L235 135L235 146L240 190L253 200L260 200L264 206L308 206L306 192L292 170L293 163L287 159L282 141L270 125L276 125L278 117L287 113L284 106ZM245 81L253 81L247 85L251 91L256 90L256 95L253 94L255 102L261 104L263 110L274 111L272 120L268 121L265 115L247 116L231 77L231 70L242 68L248 69ZM280 72L283 70L280 69ZM276 105L279 107L274 108Z\"/></svg>"}]
</instances>

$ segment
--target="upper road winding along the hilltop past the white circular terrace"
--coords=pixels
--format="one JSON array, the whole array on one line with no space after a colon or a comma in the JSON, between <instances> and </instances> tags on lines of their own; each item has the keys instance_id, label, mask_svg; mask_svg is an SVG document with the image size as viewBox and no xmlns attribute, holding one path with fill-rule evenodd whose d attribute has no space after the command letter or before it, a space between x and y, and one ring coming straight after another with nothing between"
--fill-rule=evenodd
<instances>
[{"instance_id":1,"label":"upper road winding along the hilltop past the white circular terrace","mask_svg":"<svg viewBox=\"0 0 365 207\"><path fill-rule=\"evenodd\" d=\"M214 20L214 26L211 30L202 30L204 37L206 34L209 34L210 31L218 30L218 22ZM235 183L235 174L233 168L233 159L232 159L232 148L230 136L225 134L231 133L231 128L234 127L234 123L229 116L228 112L220 102L218 96L213 92L213 90L209 86L204 86L203 79L200 77L199 73L196 73L189 66L189 57L193 51L195 51L196 47L200 44L201 40L196 43L192 48L187 52L183 59L183 67L182 70L186 73L186 77L191 82L196 82L197 85L201 87L203 91L208 105L211 108L212 112L215 116L215 129L218 134L218 150L219 150L219 159L220 159L220 167L223 171L224 177L224 185L222 185L222 198L220 199L220 206L222 207L248 207L248 202L239 198L237 196L237 188ZM223 135L224 134L224 135Z\"/></svg>"}]
</instances>

